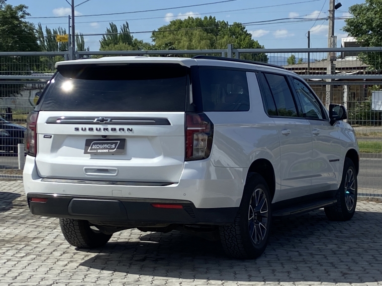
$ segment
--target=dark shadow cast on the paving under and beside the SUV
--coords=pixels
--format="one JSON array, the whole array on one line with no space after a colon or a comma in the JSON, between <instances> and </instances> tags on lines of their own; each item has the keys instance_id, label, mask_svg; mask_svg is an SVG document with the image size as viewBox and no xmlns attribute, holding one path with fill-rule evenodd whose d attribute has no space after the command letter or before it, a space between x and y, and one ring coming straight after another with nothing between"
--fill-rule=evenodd
<instances>
[{"instance_id":1,"label":"dark shadow cast on the paving under and beside the SUV","mask_svg":"<svg viewBox=\"0 0 382 286\"><path fill-rule=\"evenodd\" d=\"M382 280L382 213L356 212L329 221L323 210L275 219L265 253L255 260L224 255L220 242L176 231L143 233L140 241L110 242L82 266L130 274L232 281Z\"/></svg>"}]
</instances>

